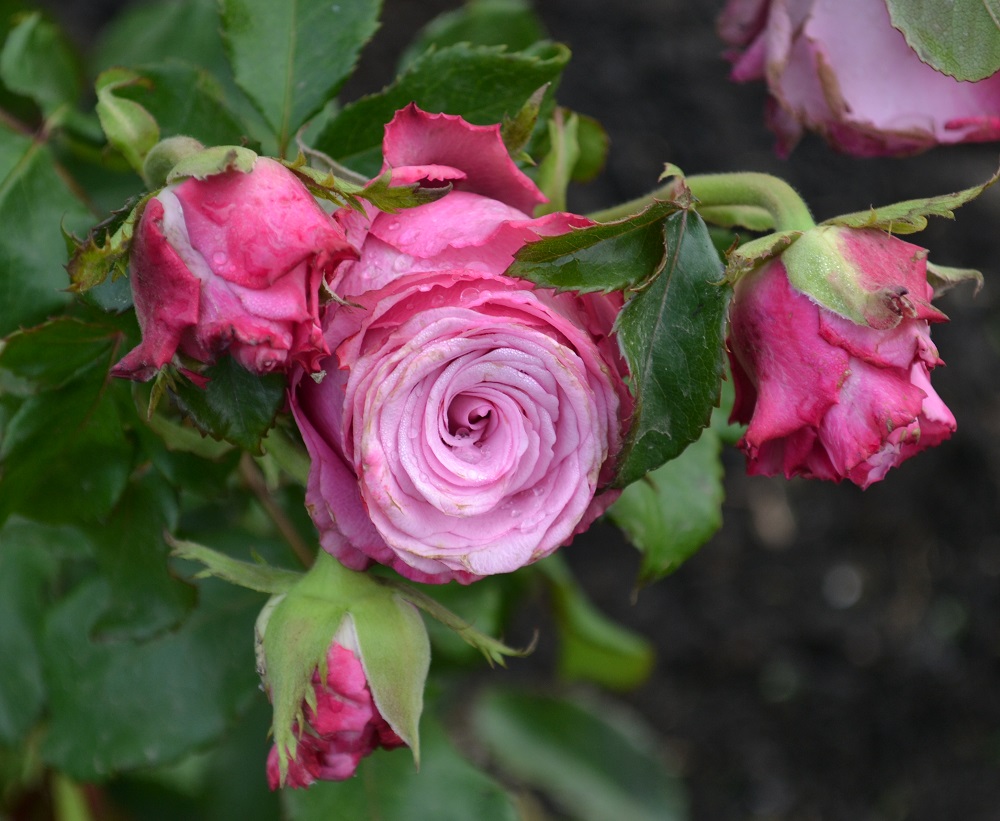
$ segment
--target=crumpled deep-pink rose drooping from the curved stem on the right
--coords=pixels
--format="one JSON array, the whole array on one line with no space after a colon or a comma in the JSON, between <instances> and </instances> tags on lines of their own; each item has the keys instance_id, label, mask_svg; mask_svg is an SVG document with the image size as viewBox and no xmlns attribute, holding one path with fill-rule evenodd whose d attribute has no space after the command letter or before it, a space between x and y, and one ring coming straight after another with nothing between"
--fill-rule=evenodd
<instances>
[{"instance_id":1,"label":"crumpled deep-pink rose drooping from the curved stem on the right","mask_svg":"<svg viewBox=\"0 0 1000 821\"><path fill-rule=\"evenodd\" d=\"M749 423L749 473L865 488L955 430L930 383L942 363L928 323L946 317L929 304L924 249L875 230L815 230L879 310L857 324L796 290L786 271L794 244L741 279L728 338L732 421Z\"/></svg>"}]
</instances>

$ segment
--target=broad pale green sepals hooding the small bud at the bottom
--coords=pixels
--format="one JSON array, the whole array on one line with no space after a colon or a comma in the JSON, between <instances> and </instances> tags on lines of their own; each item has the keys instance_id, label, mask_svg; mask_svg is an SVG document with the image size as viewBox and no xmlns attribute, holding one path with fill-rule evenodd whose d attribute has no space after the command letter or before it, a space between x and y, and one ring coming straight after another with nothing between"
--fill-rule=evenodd
<instances>
[{"instance_id":1,"label":"broad pale green sepals hooding the small bud at the bottom","mask_svg":"<svg viewBox=\"0 0 1000 821\"><path fill-rule=\"evenodd\" d=\"M430 664L423 622L391 587L320 551L316 563L274 605L263 636L264 684L274 705L282 779L296 746L295 726L304 727L303 702L314 706L313 672L319 669L325 677L331 643L340 636L350 647L351 630L375 706L419 764L419 722Z\"/></svg>"}]
</instances>

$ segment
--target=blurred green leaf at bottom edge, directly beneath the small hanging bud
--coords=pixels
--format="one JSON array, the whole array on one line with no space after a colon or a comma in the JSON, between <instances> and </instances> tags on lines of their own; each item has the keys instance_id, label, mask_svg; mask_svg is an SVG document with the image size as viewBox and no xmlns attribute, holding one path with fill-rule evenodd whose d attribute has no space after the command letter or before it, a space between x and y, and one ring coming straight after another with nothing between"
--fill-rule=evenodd
<instances>
[{"instance_id":1,"label":"blurred green leaf at bottom edge, directly beneath the small hanging bud","mask_svg":"<svg viewBox=\"0 0 1000 821\"><path fill-rule=\"evenodd\" d=\"M496 781L466 761L430 715L422 722L424 761L417 772L400 750L377 750L347 781L284 790L291 821L378 818L381 821L518 821L514 802Z\"/></svg>"}]
</instances>

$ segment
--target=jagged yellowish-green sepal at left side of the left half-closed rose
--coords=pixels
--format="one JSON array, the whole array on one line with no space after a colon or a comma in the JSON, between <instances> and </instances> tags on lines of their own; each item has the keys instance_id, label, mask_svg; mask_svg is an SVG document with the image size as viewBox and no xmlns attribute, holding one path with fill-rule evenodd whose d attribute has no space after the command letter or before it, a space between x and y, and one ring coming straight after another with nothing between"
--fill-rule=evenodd
<instances>
[{"instance_id":1,"label":"jagged yellowish-green sepal at left side of the left half-closed rose","mask_svg":"<svg viewBox=\"0 0 1000 821\"><path fill-rule=\"evenodd\" d=\"M84 293L100 285L111 275L112 281L125 276L128 270L128 251L132 234L152 194L136 196L125 203L121 210L113 211L79 239L63 230L70 252L66 265L69 290Z\"/></svg>"}]
</instances>

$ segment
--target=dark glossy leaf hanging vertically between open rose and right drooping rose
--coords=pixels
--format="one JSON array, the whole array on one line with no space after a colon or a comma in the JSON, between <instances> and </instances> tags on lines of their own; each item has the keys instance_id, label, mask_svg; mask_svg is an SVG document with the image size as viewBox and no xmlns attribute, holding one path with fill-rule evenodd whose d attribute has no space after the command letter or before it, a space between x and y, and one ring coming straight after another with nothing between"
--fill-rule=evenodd
<instances>
[{"instance_id":1,"label":"dark glossy leaf hanging vertically between open rose and right drooping rose","mask_svg":"<svg viewBox=\"0 0 1000 821\"><path fill-rule=\"evenodd\" d=\"M625 487L701 435L719 401L730 289L708 229L691 211L666 221L662 272L618 316L635 411L616 484Z\"/></svg>"}]
</instances>

